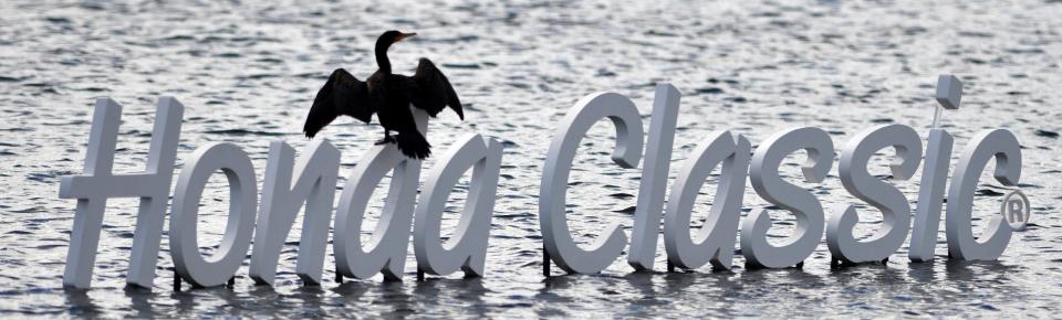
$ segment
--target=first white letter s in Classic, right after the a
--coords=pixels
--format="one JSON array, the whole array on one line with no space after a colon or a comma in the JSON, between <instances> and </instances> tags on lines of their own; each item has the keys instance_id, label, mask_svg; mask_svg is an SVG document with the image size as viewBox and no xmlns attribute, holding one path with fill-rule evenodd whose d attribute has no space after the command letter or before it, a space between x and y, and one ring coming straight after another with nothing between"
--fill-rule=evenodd
<instances>
[{"instance_id":1,"label":"first white letter s in Classic, right after the a","mask_svg":"<svg viewBox=\"0 0 1062 320\"><path fill-rule=\"evenodd\" d=\"M741 223L741 254L754 267L783 268L808 258L822 238L822 204L811 192L782 180L778 167L793 151L808 151L808 162L801 170L808 182L820 182L833 166L833 141L819 128L795 128L767 139L752 156L749 178L756 193L771 204L796 215L795 232L773 246L767 241L771 216L767 209L750 214Z\"/></svg>"}]
</instances>

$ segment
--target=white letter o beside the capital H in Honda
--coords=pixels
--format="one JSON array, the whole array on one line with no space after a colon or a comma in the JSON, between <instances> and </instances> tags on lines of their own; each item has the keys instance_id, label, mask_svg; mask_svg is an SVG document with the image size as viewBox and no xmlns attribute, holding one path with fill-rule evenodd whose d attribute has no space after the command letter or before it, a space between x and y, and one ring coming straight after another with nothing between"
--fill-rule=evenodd
<instances>
[{"instance_id":1,"label":"white letter o beside the capital H in Honda","mask_svg":"<svg viewBox=\"0 0 1062 320\"><path fill-rule=\"evenodd\" d=\"M229 218L218 250L205 259L197 238L199 199L218 169L229 180ZM211 143L191 153L177 178L169 221L169 250L180 277L199 287L212 287L235 276L251 246L257 204L254 167L243 150L231 143Z\"/></svg>"}]
</instances>

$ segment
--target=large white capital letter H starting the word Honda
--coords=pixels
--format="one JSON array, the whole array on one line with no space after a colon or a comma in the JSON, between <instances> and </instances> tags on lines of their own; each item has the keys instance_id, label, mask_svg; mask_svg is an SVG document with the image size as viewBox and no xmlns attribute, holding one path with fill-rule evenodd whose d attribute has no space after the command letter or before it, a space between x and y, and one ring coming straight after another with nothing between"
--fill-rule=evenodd
<instances>
[{"instance_id":1,"label":"large white capital letter H starting the word Honda","mask_svg":"<svg viewBox=\"0 0 1062 320\"><path fill-rule=\"evenodd\" d=\"M85 289L92 282L92 267L96 260L100 227L103 224L107 199L139 196L140 207L136 213L136 230L133 232L129 274L125 280L129 285L152 287L184 110L185 107L177 99L159 98L147 169L144 173L114 175L111 169L114 164L114 146L122 119L122 107L110 98L96 100L85 156L85 175L63 177L59 189L60 198L77 199L70 248L66 252L64 286Z\"/></svg>"}]
</instances>

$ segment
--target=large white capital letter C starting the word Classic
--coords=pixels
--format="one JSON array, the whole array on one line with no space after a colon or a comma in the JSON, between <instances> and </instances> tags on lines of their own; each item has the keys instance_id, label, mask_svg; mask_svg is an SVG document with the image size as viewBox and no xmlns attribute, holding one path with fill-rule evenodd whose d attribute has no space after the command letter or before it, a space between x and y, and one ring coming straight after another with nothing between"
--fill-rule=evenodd
<instances>
[{"instance_id":1,"label":"large white capital letter C starting the word Classic","mask_svg":"<svg viewBox=\"0 0 1062 320\"><path fill-rule=\"evenodd\" d=\"M620 257L627 237L620 224L605 227L591 249L575 244L568 228L564 198L568 175L579 141L598 119L607 117L616 126L616 147L612 161L623 168L634 168L642 158L642 118L631 99L614 93L597 93L583 97L553 134L550 151L539 186L539 224L542 241L550 257L568 273L594 274L608 267Z\"/></svg>"}]
</instances>

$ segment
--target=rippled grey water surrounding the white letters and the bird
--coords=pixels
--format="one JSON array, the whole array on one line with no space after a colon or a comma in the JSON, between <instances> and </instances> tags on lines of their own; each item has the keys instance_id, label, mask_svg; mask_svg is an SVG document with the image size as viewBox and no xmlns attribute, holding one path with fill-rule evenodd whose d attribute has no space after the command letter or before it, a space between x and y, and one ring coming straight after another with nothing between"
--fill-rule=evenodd
<instances>
[{"instance_id":1,"label":"rippled grey water surrounding the white letters and the bird","mask_svg":"<svg viewBox=\"0 0 1062 320\"><path fill-rule=\"evenodd\" d=\"M0 314L1052 318L1060 311L1060 1L278 2L0 2ZM504 140L487 277L418 282L410 257L404 282L302 287L291 273L293 233L275 288L253 286L244 267L233 289L174 292L164 236L155 288L126 290L136 202L112 200L94 289L62 289L75 202L58 199L59 178L81 172L94 97L125 107L118 172L143 170L156 98L173 95L187 106L178 170L195 148L230 141L261 174L271 140L308 143L302 120L331 70L363 78L375 71L372 45L387 29L420 34L393 47L396 71L412 73L417 57L430 57L468 103L467 121L444 114L431 124L437 154L465 132ZM886 267L830 270L823 243L803 270L747 271L738 257L731 273L633 274L616 260L598 276L541 277L541 166L554 124L577 98L595 90L627 95L647 126L654 83L673 83L684 94L676 163L717 129L753 145L794 126L822 127L837 146L887 122L925 135L940 73L966 83L962 108L944 118L957 150L985 128L1008 128L1022 143L1021 190L1033 218L999 262L948 263L941 234L933 264L908 264L905 245ZM608 162L611 130L606 122L591 130L571 180L572 225L584 242L605 223L633 221L627 209L639 173ZM344 152L341 175L379 131L351 120L324 131ZM796 172L784 168L789 177ZM834 166L822 184L801 185L814 189L824 207L854 203L835 174ZM912 202L919 174L896 182ZM1006 192L989 178L982 174L976 226ZM451 211L464 192L455 192ZM746 211L764 205L751 188L746 193ZM708 201L702 195L695 212ZM223 179L211 178L200 213L205 243L220 239L227 202ZM874 215L863 214L864 234L881 221ZM775 234L791 227L791 215L774 216ZM454 214L446 218L456 222ZM329 255L326 266L331 247ZM663 263L659 249L658 269Z\"/></svg>"}]
</instances>

